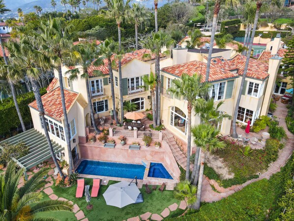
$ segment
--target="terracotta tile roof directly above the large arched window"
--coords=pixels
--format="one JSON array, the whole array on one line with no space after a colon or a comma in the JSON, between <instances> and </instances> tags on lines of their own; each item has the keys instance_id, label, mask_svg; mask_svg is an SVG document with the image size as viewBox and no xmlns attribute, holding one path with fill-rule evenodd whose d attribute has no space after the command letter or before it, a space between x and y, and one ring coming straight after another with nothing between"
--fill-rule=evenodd
<instances>
[{"instance_id":1,"label":"terracotta tile roof directly above the large arched window","mask_svg":"<svg viewBox=\"0 0 294 221\"><path fill-rule=\"evenodd\" d=\"M180 77L183 73L186 73L190 76L198 73L202 75L202 81L205 81L206 63L193 61L189 63L176 64L173 66L164 67L162 68L162 71L176 75L178 77ZM236 76L238 75L211 62L208 81L219 81Z\"/></svg>"}]
</instances>

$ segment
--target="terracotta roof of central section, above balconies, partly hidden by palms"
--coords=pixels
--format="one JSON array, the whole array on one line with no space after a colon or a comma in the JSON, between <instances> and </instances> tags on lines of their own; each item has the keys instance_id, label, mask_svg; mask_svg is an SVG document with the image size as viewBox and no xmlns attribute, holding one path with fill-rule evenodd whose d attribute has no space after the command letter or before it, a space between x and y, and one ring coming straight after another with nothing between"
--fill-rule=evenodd
<instances>
[{"instance_id":1,"label":"terracotta roof of central section, above balconies, partly hidden by palms","mask_svg":"<svg viewBox=\"0 0 294 221\"><path fill-rule=\"evenodd\" d=\"M149 49L140 49L137 51L125 53L121 59L121 66L126 63L131 62L133 59L138 59L143 62L154 60L155 59L154 55L151 55L151 58L143 58L143 56L145 54L150 54L150 53L151 53L151 51ZM165 57L165 56L160 54L160 58L163 58L163 57ZM98 67L95 67L92 65L92 66L88 67L89 76L92 76L93 70L100 70L103 74L109 74L108 60L104 59L103 62L104 62L104 65L101 65ZM116 61L116 65L118 66L118 60Z\"/></svg>"}]
</instances>

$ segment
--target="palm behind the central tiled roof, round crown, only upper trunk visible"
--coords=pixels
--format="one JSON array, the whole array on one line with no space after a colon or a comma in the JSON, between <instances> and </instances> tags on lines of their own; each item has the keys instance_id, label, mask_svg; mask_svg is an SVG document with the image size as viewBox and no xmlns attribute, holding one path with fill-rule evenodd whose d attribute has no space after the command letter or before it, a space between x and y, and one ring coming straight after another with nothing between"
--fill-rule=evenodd
<instances>
[{"instance_id":1,"label":"palm behind the central tiled roof, round crown, only upper trunk visible","mask_svg":"<svg viewBox=\"0 0 294 221\"><path fill-rule=\"evenodd\" d=\"M127 13L127 20L135 24L136 50L138 50L138 27L150 18L150 13L144 5L133 3L132 8Z\"/></svg>"}]
</instances>

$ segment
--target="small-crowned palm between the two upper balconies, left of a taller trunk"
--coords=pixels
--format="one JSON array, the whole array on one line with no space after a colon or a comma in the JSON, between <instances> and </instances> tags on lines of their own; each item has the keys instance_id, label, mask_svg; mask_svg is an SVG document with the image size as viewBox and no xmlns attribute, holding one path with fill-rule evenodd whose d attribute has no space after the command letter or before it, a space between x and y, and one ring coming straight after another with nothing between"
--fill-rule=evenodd
<instances>
[{"instance_id":1,"label":"small-crowned palm between the two upper balconies, left of a taller trunk","mask_svg":"<svg viewBox=\"0 0 294 221\"><path fill-rule=\"evenodd\" d=\"M114 58L115 53L118 51L118 42L115 42L112 39L106 39L104 42L98 45L98 51L100 55L103 55L107 59L107 67L110 77L110 86L111 86L111 97L112 105L115 116L115 121L118 124L118 114L116 110L116 97L115 97L115 88L114 88L114 78L112 71L112 59Z\"/></svg>"}]
</instances>

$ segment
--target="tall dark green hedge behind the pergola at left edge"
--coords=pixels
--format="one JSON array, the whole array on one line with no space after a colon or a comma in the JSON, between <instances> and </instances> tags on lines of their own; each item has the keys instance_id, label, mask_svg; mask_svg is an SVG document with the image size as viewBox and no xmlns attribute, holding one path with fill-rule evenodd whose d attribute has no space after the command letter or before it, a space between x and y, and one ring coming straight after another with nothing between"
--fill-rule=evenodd
<instances>
[{"instance_id":1,"label":"tall dark green hedge behind the pergola at left edge","mask_svg":"<svg viewBox=\"0 0 294 221\"><path fill-rule=\"evenodd\" d=\"M40 89L41 95L46 94L46 89ZM25 124L31 122L31 116L28 104L35 100L32 92L18 95L17 102L23 117ZM15 129L20 125L14 102L12 97L3 100L0 103L0 134L5 135L10 132L11 129Z\"/></svg>"}]
</instances>

